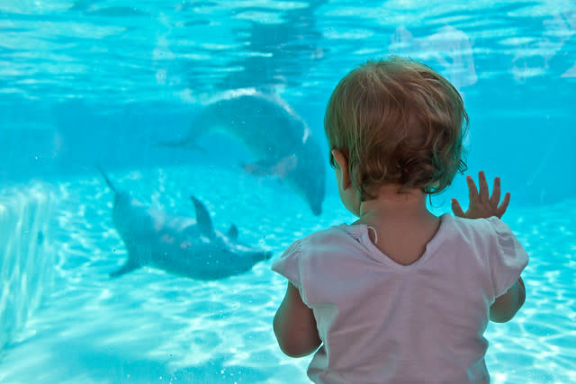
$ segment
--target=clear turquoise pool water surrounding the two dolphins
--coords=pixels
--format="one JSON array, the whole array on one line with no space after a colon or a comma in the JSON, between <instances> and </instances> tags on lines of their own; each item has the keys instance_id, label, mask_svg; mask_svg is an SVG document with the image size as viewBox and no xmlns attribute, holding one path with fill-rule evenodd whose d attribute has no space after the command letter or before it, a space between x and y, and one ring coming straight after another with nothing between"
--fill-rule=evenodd
<instances>
[{"instance_id":1,"label":"clear turquoise pool water surrounding the two dolphins","mask_svg":"<svg viewBox=\"0 0 576 384\"><path fill-rule=\"evenodd\" d=\"M197 196L214 228L234 223L238 240L275 260L295 238L352 219L327 159L315 216L282 178L247 172L258 158L237 138L156 144L184 137L230 90L257 89L291 105L326 153L332 87L391 53L459 88L469 172L500 175L512 192L504 219L531 257L527 302L489 326L492 381L576 382L576 4L552 0L0 1L0 225L15 228L0 236L10 335L0 382L308 382L310 359L275 344L285 281L272 261L219 281L148 267L110 279L127 251L94 164L170 214L194 218ZM278 119L250 128L272 136ZM466 199L462 176L433 210L453 196Z\"/></svg>"}]
</instances>

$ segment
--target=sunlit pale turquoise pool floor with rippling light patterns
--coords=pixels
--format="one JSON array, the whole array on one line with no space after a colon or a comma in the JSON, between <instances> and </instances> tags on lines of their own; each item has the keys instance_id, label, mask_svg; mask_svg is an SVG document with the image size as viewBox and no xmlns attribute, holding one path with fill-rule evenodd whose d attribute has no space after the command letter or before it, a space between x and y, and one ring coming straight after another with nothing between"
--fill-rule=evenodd
<instances>
[{"instance_id":1,"label":"sunlit pale turquoise pool floor with rippling light patterns","mask_svg":"<svg viewBox=\"0 0 576 384\"><path fill-rule=\"evenodd\" d=\"M182 167L111 178L174 214L193 217L188 196L198 196L215 228L233 222L240 239L274 251L273 260L296 237L352 219L336 196L316 218L283 185L238 170ZM146 267L112 280L108 273L126 256L112 225L112 192L95 172L59 183L58 191L49 235L57 278L0 354L1 383L309 382L310 357L288 358L275 344L272 318L285 281L270 271L272 261L221 281ZM576 201L536 208L512 201L504 219L531 258L524 308L486 333L492 382L576 382Z\"/></svg>"}]
</instances>

